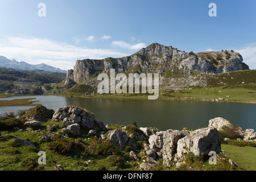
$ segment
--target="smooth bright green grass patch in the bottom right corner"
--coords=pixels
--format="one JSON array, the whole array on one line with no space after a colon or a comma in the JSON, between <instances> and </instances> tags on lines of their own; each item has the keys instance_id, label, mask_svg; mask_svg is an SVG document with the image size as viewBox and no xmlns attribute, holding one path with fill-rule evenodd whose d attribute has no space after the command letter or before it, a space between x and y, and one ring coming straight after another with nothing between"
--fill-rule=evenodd
<instances>
[{"instance_id":1,"label":"smooth bright green grass patch in the bottom right corner","mask_svg":"<svg viewBox=\"0 0 256 182\"><path fill-rule=\"evenodd\" d=\"M256 171L256 148L238 147L229 144L221 144L221 150L234 160L241 168L249 171Z\"/></svg>"}]
</instances>

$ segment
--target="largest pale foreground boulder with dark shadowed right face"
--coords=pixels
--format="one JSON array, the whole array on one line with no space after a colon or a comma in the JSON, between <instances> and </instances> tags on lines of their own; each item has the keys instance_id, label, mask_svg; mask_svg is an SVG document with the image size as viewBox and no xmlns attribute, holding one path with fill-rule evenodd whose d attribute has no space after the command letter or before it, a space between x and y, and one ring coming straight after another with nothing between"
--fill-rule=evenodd
<instances>
[{"instance_id":1,"label":"largest pale foreground boulder with dark shadowed right face","mask_svg":"<svg viewBox=\"0 0 256 182\"><path fill-rule=\"evenodd\" d=\"M210 151L221 151L221 138L217 129L207 127L198 129L177 141L177 158L192 152L196 156L207 156Z\"/></svg>"}]
</instances>

